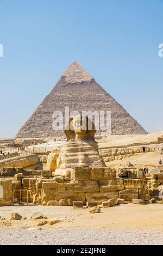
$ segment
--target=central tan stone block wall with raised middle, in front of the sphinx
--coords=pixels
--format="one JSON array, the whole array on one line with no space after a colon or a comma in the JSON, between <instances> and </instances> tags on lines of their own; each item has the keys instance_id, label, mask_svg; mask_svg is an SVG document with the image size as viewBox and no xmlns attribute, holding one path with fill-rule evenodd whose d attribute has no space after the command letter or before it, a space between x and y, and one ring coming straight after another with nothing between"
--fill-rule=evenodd
<instances>
[{"instance_id":1,"label":"central tan stone block wall with raised middle, in front of the sphinx","mask_svg":"<svg viewBox=\"0 0 163 256\"><path fill-rule=\"evenodd\" d=\"M74 167L69 179L55 176L53 181L42 182L43 205L72 205L73 201L98 204L114 198L131 201L133 198L148 200L143 179L119 178L115 169L107 167Z\"/></svg>"}]
</instances>

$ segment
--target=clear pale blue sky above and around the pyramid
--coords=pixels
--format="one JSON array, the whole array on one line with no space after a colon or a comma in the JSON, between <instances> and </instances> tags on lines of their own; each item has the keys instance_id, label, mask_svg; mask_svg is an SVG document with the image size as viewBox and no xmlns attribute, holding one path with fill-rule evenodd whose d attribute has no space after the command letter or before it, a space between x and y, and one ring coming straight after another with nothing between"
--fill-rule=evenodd
<instances>
[{"instance_id":1,"label":"clear pale blue sky above and around the pyramid","mask_svg":"<svg viewBox=\"0 0 163 256\"><path fill-rule=\"evenodd\" d=\"M77 60L149 132L163 130L162 0L0 0L0 137Z\"/></svg>"}]
</instances>

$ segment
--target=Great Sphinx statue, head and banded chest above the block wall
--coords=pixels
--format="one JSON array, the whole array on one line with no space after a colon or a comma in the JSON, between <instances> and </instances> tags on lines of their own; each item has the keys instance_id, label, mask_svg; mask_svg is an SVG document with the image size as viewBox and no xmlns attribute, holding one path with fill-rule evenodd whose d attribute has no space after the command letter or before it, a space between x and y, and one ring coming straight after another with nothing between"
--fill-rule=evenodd
<instances>
[{"instance_id":1,"label":"Great Sphinx statue, head and banded chest above the block wall","mask_svg":"<svg viewBox=\"0 0 163 256\"><path fill-rule=\"evenodd\" d=\"M52 153L54 157L51 166L55 167L54 175L65 176L66 172L75 166L105 167L105 163L99 155L95 133L95 125L88 117L74 115L70 118L65 129L67 143L62 146L59 154L58 151L55 154L55 150Z\"/></svg>"}]
</instances>

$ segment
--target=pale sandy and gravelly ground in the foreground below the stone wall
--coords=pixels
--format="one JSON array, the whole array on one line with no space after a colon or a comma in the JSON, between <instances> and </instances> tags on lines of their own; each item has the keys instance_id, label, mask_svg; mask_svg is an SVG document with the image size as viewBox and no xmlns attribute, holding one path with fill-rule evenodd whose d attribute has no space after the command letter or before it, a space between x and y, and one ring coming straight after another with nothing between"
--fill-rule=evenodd
<instances>
[{"instance_id":1,"label":"pale sandy and gravelly ground in the foreground below the stone wall","mask_svg":"<svg viewBox=\"0 0 163 256\"><path fill-rule=\"evenodd\" d=\"M90 214L89 209L72 206L1 207L0 245L163 245L163 204L116 205ZM40 220L30 215L42 212L47 220L66 217L54 225L37 227ZM11 212L27 220L10 221Z\"/></svg>"}]
</instances>

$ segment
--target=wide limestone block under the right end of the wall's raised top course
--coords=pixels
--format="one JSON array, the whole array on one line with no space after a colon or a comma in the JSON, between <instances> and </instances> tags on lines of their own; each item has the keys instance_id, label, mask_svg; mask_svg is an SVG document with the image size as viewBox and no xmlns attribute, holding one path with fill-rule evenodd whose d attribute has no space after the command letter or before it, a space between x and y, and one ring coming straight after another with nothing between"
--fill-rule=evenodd
<instances>
[{"instance_id":1,"label":"wide limestone block under the right end of the wall's raised top course","mask_svg":"<svg viewBox=\"0 0 163 256\"><path fill-rule=\"evenodd\" d=\"M104 179L99 180L99 191L107 192L107 191L118 191L124 190L123 179Z\"/></svg>"}]
</instances>

